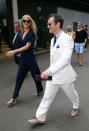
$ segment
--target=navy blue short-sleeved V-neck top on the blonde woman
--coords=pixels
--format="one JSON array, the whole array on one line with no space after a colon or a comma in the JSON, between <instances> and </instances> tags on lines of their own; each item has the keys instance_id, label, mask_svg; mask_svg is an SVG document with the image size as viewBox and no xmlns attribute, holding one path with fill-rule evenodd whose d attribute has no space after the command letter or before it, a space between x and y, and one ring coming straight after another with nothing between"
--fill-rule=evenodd
<instances>
[{"instance_id":1,"label":"navy blue short-sleeved V-neck top on the blonde woman","mask_svg":"<svg viewBox=\"0 0 89 131\"><path fill-rule=\"evenodd\" d=\"M24 38L22 38L21 40L21 47L25 46L27 44L27 42L31 43L31 46L29 47L29 49L21 52L22 57L26 56L26 55L34 55L34 49L33 49L33 43L36 39L36 35L33 32L33 30L30 30L26 36Z\"/></svg>"}]
</instances>

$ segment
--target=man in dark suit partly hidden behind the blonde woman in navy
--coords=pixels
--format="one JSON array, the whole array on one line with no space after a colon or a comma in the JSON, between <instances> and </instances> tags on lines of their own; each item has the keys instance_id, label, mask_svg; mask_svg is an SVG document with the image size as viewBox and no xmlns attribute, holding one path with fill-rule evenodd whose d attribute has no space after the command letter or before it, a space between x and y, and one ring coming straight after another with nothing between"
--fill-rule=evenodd
<instances>
[{"instance_id":1,"label":"man in dark suit partly hidden behind the blonde woman in navy","mask_svg":"<svg viewBox=\"0 0 89 131\"><path fill-rule=\"evenodd\" d=\"M15 31L15 35L12 42L12 50L15 50L21 47L22 31L20 27L20 22L14 23L14 31ZM16 64L20 63L20 59L21 59L21 53L15 53L14 61Z\"/></svg>"}]
</instances>

